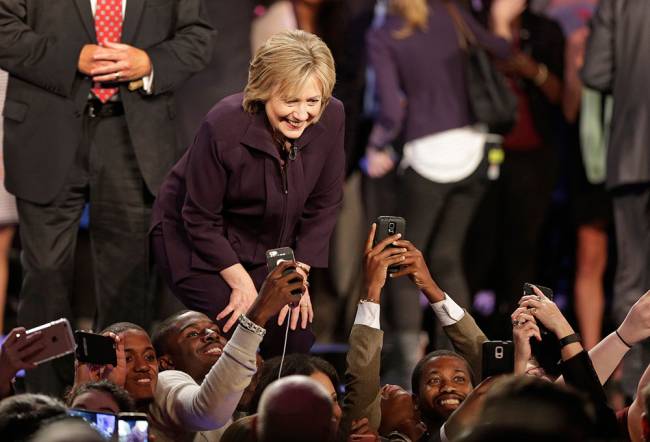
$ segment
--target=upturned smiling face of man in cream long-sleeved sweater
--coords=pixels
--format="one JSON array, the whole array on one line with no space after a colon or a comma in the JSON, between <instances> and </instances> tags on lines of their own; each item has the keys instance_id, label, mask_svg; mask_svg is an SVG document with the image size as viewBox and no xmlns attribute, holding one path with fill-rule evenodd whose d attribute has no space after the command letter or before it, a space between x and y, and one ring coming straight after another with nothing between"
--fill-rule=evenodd
<instances>
[{"instance_id":1,"label":"upturned smiling face of man in cream long-sleeved sweater","mask_svg":"<svg viewBox=\"0 0 650 442\"><path fill-rule=\"evenodd\" d=\"M174 368L201 382L221 357L228 341L219 326L199 312L182 314L176 329L178 332L172 333L168 341Z\"/></svg>"}]
</instances>

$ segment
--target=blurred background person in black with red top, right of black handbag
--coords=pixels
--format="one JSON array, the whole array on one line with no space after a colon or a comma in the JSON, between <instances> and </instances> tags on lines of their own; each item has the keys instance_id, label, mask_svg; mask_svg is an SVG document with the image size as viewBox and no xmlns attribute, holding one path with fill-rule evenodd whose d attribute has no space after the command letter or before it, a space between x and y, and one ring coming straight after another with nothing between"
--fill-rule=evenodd
<instances>
[{"instance_id":1,"label":"blurred background person in black with red top, right of black handbag","mask_svg":"<svg viewBox=\"0 0 650 442\"><path fill-rule=\"evenodd\" d=\"M478 16L486 25L494 3L482 2ZM474 225L480 233L474 232L477 241L469 246L472 271L483 272L483 283L496 293L491 335L506 339L509 312L522 284L536 276L540 233L556 182L564 36L555 21L533 12L528 2L523 11L511 2L503 7L516 13L510 25L512 56L499 65L517 95L517 120L503 139L500 174L480 206Z\"/></svg>"}]
</instances>

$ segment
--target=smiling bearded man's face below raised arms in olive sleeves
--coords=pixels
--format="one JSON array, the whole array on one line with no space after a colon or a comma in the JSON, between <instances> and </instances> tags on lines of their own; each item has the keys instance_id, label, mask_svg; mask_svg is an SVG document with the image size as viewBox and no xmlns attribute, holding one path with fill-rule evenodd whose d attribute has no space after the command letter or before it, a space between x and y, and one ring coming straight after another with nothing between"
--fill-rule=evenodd
<instances>
[{"instance_id":1,"label":"smiling bearded man's face below raised arms in olive sleeves","mask_svg":"<svg viewBox=\"0 0 650 442\"><path fill-rule=\"evenodd\" d=\"M472 391L467 364L453 356L437 356L422 369L418 408L428 421L446 420Z\"/></svg>"}]
</instances>

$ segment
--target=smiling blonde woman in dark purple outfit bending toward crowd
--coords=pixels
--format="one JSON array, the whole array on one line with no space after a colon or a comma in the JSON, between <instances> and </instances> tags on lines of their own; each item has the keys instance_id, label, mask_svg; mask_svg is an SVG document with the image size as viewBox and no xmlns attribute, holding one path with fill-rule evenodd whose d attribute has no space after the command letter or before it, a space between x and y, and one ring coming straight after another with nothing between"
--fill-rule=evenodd
<instances>
[{"instance_id":1,"label":"smiling blonde woman in dark purple outfit bending toward crowd","mask_svg":"<svg viewBox=\"0 0 650 442\"><path fill-rule=\"evenodd\" d=\"M151 232L156 262L190 309L228 333L263 282L268 249L292 247L297 270L325 267L345 173L334 62L303 31L271 37L255 55L243 94L205 117L165 179ZM265 356L282 350L289 307L267 324ZM309 292L291 311L288 351L308 351ZM300 327L296 330L298 323Z\"/></svg>"}]
</instances>

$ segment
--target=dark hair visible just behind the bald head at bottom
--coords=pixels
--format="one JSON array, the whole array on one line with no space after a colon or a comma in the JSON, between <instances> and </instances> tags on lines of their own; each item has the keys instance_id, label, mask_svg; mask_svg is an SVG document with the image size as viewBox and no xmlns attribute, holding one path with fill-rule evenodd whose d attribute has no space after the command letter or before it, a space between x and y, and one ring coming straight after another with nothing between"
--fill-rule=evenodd
<instances>
[{"instance_id":1,"label":"dark hair visible just behind the bald head at bottom","mask_svg":"<svg viewBox=\"0 0 650 442\"><path fill-rule=\"evenodd\" d=\"M260 401L262 393L266 387L271 384L271 382L278 379L278 372L280 370L280 361L282 358L276 356L274 358L264 361L264 368L260 373L259 381L257 383L257 388L251 399L250 410L256 412L257 406ZM294 374L301 374L304 376L311 376L312 374L320 371L324 373L330 381L334 388L339 391L341 381L339 378L336 369L323 358L318 356L312 356L304 353L293 353L284 357L284 362L282 364L282 376L289 376Z\"/></svg>"}]
</instances>

